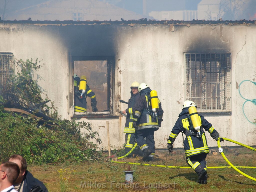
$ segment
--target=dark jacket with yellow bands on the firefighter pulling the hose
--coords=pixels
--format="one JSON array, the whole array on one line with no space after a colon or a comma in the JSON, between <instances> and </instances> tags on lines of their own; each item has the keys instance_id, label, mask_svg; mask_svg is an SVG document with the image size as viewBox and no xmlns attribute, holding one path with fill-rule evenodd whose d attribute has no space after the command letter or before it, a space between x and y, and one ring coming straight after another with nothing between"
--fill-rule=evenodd
<instances>
[{"instance_id":1,"label":"dark jacket with yellow bands on the firefighter pulling the hose","mask_svg":"<svg viewBox=\"0 0 256 192\"><path fill-rule=\"evenodd\" d=\"M173 144L175 138L178 136L180 132L183 132L186 135L184 140L184 150L186 157L190 157L193 155L198 155L201 153L209 153L209 148L207 145L207 140L205 136L205 131L208 131L213 138L219 137L219 133L213 128L212 124L209 123L204 116L199 115L199 120L202 123L202 128L200 130L201 137L196 137L193 134L190 134L190 122L188 120L188 108L184 108L182 112L179 114L179 118L176 121L172 132L169 136L168 143ZM192 130L193 131L193 130Z\"/></svg>"}]
</instances>

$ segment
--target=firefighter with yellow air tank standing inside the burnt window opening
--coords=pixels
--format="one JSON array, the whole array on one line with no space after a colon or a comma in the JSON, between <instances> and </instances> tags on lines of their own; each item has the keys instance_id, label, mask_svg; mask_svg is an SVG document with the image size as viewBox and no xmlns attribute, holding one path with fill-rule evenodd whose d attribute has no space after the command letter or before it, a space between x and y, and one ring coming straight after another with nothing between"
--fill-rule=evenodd
<instances>
[{"instance_id":1,"label":"firefighter with yellow air tank standing inside the burnt window opening","mask_svg":"<svg viewBox=\"0 0 256 192\"><path fill-rule=\"evenodd\" d=\"M92 111L97 112L97 101L95 93L90 89L87 84L86 76L82 75L81 78L74 74L74 111L75 112L87 112L86 97L91 98Z\"/></svg>"}]
</instances>

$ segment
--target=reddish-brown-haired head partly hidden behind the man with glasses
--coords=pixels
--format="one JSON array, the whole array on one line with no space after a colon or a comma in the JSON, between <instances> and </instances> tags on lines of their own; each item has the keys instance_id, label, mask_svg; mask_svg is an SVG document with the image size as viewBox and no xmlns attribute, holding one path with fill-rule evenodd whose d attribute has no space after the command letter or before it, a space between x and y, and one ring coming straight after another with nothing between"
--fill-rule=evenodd
<instances>
[{"instance_id":1,"label":"reddish-brown-haired head partly hidden behind the man with glasses","mask_svg":"<svg viewBox=\"0 0 256 192\"><path fill-rule=\"evenodd\" d=\"M20 155L12 155L8 159L9 162L16 163L19 166L20 173L15 183L21 183L27 170L27 161Z\"/></svg>"}]
</instances>

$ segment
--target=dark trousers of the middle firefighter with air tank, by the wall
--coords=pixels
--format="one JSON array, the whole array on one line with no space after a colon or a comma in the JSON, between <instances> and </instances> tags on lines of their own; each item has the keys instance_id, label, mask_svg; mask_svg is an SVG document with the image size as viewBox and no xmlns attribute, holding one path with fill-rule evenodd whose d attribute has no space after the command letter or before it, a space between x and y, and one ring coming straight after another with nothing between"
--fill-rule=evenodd
<instances>
[{"instance_id":1,"label":"dark trousers of the middle firefighter with air tank, by the wall","mask_svg":"<svg viewBox=\"0 0 256 192\"><path fill-rule=\"evenodd\" d=\"M151 154L155 154L155 140L154 140L154 133L155 129L148 128L148 129L141 129L135 131L135 139L138 146L143 151L145 148L150 148ZM145 139L144 139L145 138Z\"/></svg>"}]
</instances>

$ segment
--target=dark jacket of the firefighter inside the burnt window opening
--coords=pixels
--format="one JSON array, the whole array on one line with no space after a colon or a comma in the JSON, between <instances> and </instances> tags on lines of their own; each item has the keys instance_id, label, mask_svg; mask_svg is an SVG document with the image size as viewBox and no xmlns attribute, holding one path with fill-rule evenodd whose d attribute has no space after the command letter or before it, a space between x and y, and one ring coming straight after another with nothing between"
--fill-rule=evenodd
<instances>
[{"instance_id":1,"label":"dark jacket of the firefighter inside the burnt window opening","mask_svg":"<svg viewBox=\"0 0 256 192\"><path fill-rule=\"evenodd\" d=\"M80 79L80 78L79 78ZM91 98L91 106L96 107L97 101L95 97L95 93L90 89L88 84L86 84L86 91L83 95L83 98L80 99L78 96L78 90L79 90L79 80L74 79L74 90L75 90L75 96L74 96L74 111L75 112L87 112L87 102L86 97ZM77 94L76 94L77 92Z\"/></svg>"}]
</instances>

